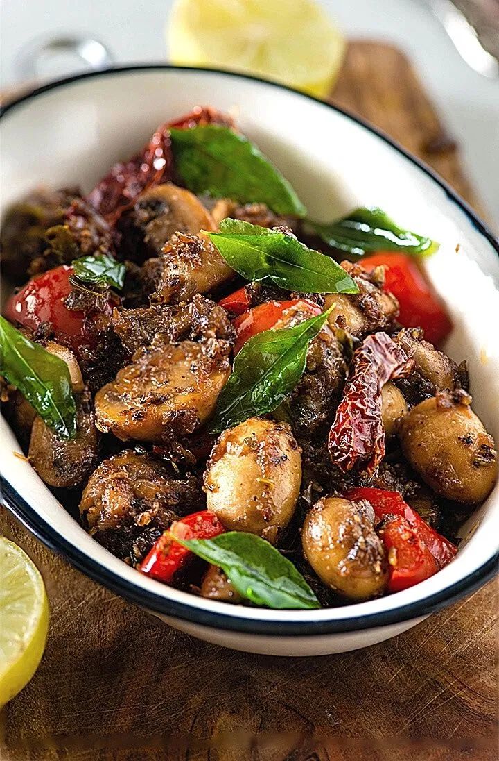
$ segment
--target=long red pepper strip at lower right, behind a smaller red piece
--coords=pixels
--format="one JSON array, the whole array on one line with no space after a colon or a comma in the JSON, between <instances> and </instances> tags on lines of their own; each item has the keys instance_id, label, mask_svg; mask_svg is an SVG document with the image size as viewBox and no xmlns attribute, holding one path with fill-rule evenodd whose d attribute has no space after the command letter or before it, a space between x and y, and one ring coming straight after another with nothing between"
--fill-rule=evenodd
<instances>
[{"instance_id":1,"label":"long red pepper strip at lower right, behind a smaller red piece","mask_svg":"<svg viewBox=\"0 0 499 761\"><path fill-rule=\"evenodd\" d=\"M456 555L456 545L442 537L441 533L423 521L421 515L407 505L399 492L387 492L386 489L371 489L360 486L356 489L350 489L346 497L352 501L366 499L371 503L378 521L381 521L385 515L399 515L405 518L419 539L428 547L440 568L447 565Z\"/></svg>"}]
</instances>

